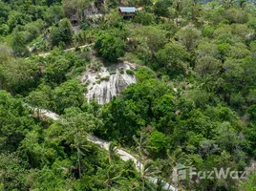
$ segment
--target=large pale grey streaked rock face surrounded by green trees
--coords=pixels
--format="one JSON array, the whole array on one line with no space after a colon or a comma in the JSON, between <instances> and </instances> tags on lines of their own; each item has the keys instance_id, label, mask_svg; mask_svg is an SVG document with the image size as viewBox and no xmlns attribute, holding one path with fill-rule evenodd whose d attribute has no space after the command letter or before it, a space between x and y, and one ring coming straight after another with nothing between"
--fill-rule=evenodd
<instances>
[{"instance_id":1,"label":"large pale grey streaked rock face surrounded by green trees","mask_svg":"<svg viewBox=\"0 0 256 191\"><path fill-rule=\"evenodd\" d=\"M124 62L110 67L102 66L99 72L86 72L81 81L88 85L85 93L88 101L96 99L100 104L108 103L113 96L119 96L127 86L136 83L136 77L127 74L126 70L134 70L134 66Z\"/></svg>"}]
</instances>

